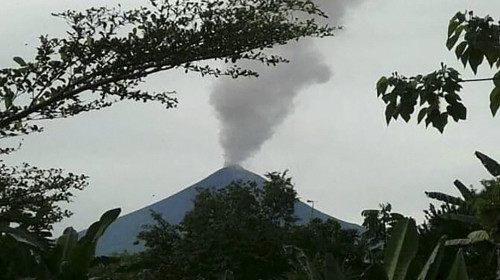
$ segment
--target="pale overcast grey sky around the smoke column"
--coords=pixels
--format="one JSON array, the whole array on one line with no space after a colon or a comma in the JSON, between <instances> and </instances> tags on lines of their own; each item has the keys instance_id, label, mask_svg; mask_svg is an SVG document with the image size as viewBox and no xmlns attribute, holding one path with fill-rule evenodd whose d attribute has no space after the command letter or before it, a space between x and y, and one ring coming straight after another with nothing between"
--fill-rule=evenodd
<instances>
[{"instance_id":1,"label":"pale overcast grey sky around the smoke column","mask_svg":"<svg viewBox=\"0 0 500 280\"><path fill-rule=\"evenodd\" d=\"M375 83L393 71L427 73L438 69L440 62L462 70L444 46L449 18L459 10L472 9L498 20L500 1L358 2L345 5L342 1L346 10L341 12L333 9L337 4L327 8L335 11L335 22L345 27L335 37L316 40L311 46L331 72L329 80L299 87L287 100L287 112L269 139L242 165L259 174L289 169L300 197L318 201L316 207L346 221L360 223L363 209L377 208L382 202L421 219L422 209L430 202L425 190L456 193L453 180L479 186L478 181L488 177L473 156L475 150L500 159L500 120L492 118L488 108L492 85L465 85L462 95L468 120L449 124L441 135L417 126L415 120L387 127ZM51 17L51 12L116 3L145 4L142 0L3 1L0 67L13 66L13 56L29 59L37 36L64 32L64 22ZM293 64L300 52L289 54L288 67L300 68L301 63ZM464 77L472 76L469 69L462 72ZM479 72L481 77L493 73L485 66ZM271 89L273 82L291 80L286 75L266 80ZM177 91L177 109L125 102L53 121L43 133L24 137L22 149L7 161L62 167L90 176L89 187L69 206L75 215L58 225L56 233L67 225L82 229L113 207L131 212L224 165L220 115L210 100L220 83L180 72L156 75L143 87Z\"/></svg>"}]
</instances>

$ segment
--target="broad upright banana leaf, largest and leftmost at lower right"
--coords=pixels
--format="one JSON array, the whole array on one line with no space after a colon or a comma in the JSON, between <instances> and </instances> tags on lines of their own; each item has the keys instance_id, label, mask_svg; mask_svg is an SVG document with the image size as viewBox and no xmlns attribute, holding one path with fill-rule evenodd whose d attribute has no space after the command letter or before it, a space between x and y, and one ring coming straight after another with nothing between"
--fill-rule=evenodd
<instances>
[{"instance_id":1,"label":"broad upright banana leaf, largest and leftmost at lower right","mask_svg":"<svg viewBox=\"0 0 500 280\"><path fill-rule=\"evenodd\" d=\"M404 280L411 261L417 254L418 233L415 220L400 220L393 229L384 255L388 280Z\"/></svg>"}]
</instances>

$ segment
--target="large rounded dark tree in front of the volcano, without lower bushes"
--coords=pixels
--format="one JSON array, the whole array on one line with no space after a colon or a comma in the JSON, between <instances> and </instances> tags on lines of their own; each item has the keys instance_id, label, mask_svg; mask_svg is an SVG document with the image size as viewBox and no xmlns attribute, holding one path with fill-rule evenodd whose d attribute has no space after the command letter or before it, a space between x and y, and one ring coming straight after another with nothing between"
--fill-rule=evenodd
<instances>
[{"instance_id":1,"label":"large rounded dark tree in front of the volcano, without lower bushes","mask_svg":"<svg viewBox=\"0 0 500 280\"><path fill-rule=\"evenodd\" d=\"M237 279L270 279L286 271L282 242L290 225L282 221L294 220L296 193L275 176L263 190L251 182L200 190L178 226L156 216L158 224L139 235L150 248L145 256L154 263L153 279L215 279L225 271ZM275 203L285 197L287 203Z\"/></svg>"}]
</instances>

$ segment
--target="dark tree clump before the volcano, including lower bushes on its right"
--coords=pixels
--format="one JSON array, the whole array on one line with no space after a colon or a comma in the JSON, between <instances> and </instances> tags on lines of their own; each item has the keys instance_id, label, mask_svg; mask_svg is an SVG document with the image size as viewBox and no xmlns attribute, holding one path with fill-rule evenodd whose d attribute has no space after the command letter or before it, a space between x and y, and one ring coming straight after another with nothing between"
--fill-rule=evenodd
<instances>
[{"instance_id":1,"label":"dark tree clump before the volcano, including lower bushes on its right","mask_svg":"<svg viewBox=\"0 0 500 280\"><path fill-rule=\"evenodd\" d=\"M151 279L287 279L294 271L286 247L303 248L307 258L322 264L333 254L342 265L360 265L362 250L355 231L344 231L334 220L296 225L297 193L286 174L271 173L263 188L233 182L203 189L180 225L154 215L139 238L148 249L143 267ZM292 254L293 255L293 254Z\"/></svg>"}]
</instances>

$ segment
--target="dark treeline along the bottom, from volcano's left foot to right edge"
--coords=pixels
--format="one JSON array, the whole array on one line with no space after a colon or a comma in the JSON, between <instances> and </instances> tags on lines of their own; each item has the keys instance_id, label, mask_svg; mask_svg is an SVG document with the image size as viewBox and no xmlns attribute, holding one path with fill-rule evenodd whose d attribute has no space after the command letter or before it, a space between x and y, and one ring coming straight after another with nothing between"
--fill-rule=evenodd
<instances>
[{"instance_id":1,"label":"dark treeline along the bottom, from volcano's left foot to right edge","mask_svg":"<svg viewBox=\"0 0 500 280\"><path fill-rule=\"evenodd\" d=\"M500 164L477 152L488 170ZM495 175L497 174L497 175ZM498 176L500 173L494 173ZM426 221L393 213L390 204L365 210L366 231L334 220L295 225L296 192L286 174L258 188L233 182L203 189L179 225L158 214L139 238L147 250L101 264L105 279L498 279L498 178L474 190L455 181L464 199L426 192ZM465 199L467 198L467 199ZM286 222L289 221L289 222Z\"/></svg>"}]
</instances>

